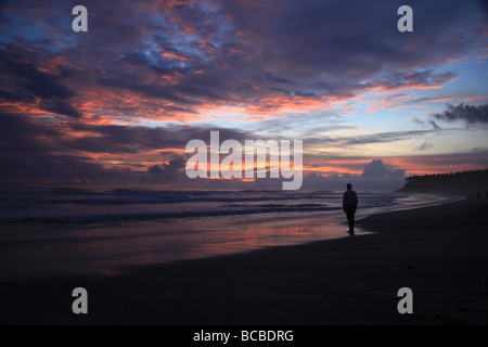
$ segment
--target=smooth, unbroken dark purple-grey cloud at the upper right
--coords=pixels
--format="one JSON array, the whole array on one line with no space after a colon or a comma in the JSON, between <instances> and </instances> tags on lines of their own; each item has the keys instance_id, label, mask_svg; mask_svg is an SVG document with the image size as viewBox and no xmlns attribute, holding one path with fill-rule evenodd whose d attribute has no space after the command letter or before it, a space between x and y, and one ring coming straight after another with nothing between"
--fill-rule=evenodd
<instances>
[{"instance_id":1,"label":"smooth, unbroken dark purple-grey cloud at the upper right","mask_svg":"<svg viewBox=\"0 0 488 347\"><path fill-rule=\"evenodd\" d=\"M318 72L371 79L378 72L445 61L474 43L462 36L468 22L463 16L473 11L472 3L461 9L454 1L413 1L416 35L402 36L396 30L396 10L401 5L397 1L222 2L236 28L260 43L265 61L278 66L275 74L284 79L310 78ZM477 22L483 16L476 17L476 24L467 25L473 35L483 28ZM442 38L449 33L455 33L455 40L447 47Z\"/></svg>"}]
</instances>

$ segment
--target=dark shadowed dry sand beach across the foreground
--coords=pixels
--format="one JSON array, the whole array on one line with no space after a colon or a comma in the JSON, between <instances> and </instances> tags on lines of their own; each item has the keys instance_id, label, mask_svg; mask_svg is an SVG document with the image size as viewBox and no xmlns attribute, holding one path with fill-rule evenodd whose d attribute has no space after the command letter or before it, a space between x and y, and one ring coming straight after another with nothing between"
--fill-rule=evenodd
<instances>
[{"instance_id":1,"label":"dark shadowed dry sand beach across the foreground","mask_svg":"<svg viewBox=\"0 0 488 347\"><path fill-rule=\"evenodd\" d=\"M144 266L118 275L2 282L0 320L3 324L486 324L487 211L485 198L472 198L376 214L358 221L356 236ZM75 287L88 292L88 314L72 311ZM412 290L411 314L397 310L401 287Z\"/></svg>"}]
</instances>

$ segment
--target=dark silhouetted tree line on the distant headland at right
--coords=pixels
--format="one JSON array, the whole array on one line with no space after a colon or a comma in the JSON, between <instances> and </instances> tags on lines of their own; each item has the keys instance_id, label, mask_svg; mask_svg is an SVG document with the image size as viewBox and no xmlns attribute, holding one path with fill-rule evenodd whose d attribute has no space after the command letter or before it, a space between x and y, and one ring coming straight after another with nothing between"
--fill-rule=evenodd
<instances>
[{"instance_id":1,"label":"dark silhouetted tree line on the distant headland at right","mask_svg":"<svg viewBox=\"0 0 488 347\"><path fill-rule=\"evenodd\" d=\"M488 197L488 169L454 174L410 176L399 192L455 193Z\"/></svg>"}]
</instances>

